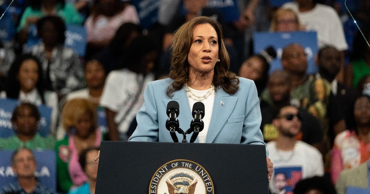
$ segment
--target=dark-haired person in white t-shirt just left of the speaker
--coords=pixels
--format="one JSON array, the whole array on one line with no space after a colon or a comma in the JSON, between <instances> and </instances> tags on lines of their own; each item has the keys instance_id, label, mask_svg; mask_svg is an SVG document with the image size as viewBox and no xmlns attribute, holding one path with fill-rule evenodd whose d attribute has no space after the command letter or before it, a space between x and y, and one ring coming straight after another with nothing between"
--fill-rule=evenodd
<instances>
[{"instance_id":1,"label":"dark-haired person in white t-shirt just left of the speaker","mask_svg":"<svg viewBox=\"0 0 370 194\"><path fill-rule=\"evenodd\" d=\"M157 58L155 42L147 36L139 36L128 47L120 70L108 74L100 106L106 110L111 141L128 139L128 128L144 103L144 88L154 81Z\"/></svg>"}]
</instances>

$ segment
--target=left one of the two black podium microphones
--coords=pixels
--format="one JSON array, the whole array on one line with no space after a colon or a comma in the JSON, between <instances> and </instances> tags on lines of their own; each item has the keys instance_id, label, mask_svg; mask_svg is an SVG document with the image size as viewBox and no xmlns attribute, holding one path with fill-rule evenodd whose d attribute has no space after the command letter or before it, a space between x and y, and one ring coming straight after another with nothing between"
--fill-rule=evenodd
<instances>
[{"instance_id":1,"label":"left one of the two black podium microphones","mask_svg":"<svg viewBox=\"0 0 370 194\"><path fill-rule=\"evenodd\" d=\"M166 121L166 128L168 129L169 134L171 134L172 140L174 140L174 142L179 142L176 136L176 133L175 133L175 131L179 131L179 126L180 126L179 120L177 119L180 113L179 111L180 111L180 106L178 102L169 101L167 103L166 113L167 113L168 119Z\"/></svg>"}]
</instances>

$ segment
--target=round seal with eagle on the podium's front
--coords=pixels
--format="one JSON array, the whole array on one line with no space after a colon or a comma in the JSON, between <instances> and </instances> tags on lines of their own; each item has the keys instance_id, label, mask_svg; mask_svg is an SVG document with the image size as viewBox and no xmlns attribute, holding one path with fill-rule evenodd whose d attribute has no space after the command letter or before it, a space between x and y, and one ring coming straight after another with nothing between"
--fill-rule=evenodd
<instances>
[{"instance_id":1,"label":"round seal with eagle on the podium's front","mask_svg":"<svg viewBox=\"0 0 370 194\"><path fill-rule=\"evenodd\" d=\"M174 160L161 166L153 175L149 194L213 194L208 172L189 160Z\"/></svg>"}]
</instances>

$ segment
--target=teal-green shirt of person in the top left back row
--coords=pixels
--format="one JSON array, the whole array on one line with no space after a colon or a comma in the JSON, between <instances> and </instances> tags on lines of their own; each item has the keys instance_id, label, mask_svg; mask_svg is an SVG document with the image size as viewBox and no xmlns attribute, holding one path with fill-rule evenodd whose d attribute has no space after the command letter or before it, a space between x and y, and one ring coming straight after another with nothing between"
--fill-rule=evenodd
<instances>
[{"instance_id":1,"label":"teal-green shirt of person in the top left back row","mask_svg":"<svg viewBox=\"0 0 370 194\"><path fill-rule=\"evenodd\" d=\"M45 14L41 10L34 10L31 6L26 7L23 15L20 19L17 32L26 26L27 17L44 17ZM57 5L57 16L63 18L66 24L82 24L84 22L83 17L78 13L77 9L71 3L66 3L64 7L61 4Z\"/></svg>"}]
</instances>

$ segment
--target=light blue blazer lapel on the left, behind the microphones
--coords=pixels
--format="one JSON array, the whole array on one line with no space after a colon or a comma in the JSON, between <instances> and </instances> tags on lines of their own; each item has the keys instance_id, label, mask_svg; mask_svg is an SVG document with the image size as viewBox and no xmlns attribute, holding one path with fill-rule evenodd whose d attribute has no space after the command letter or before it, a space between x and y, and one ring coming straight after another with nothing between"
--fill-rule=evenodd
<instances>
[{"instance_id":1,"label":"light blue blazer lapel on the left, behind the microphones","mask_svg":"<svg viewBox=\"0 0 370 194\"><path fill-rule=\"evenodd\" d=\"M190 122L193 120L193 116L191 115L191 110L189 107L189 101L188 101L188 97L186 96L185 88L183 87L182 89L175 91L172 99L163 99L165 109L167 108L167 103L169 101L177 101L179 103L180 113L178 116L178 120L180 123L180 128L183 131L188 130L190 128ZM181 134L178 134L177 132L176 132L176 135L179 139L179 142L181 142L184 136ZM186 135L186 139L188 140L188 142L190 141L191 135L192 133ZM199 142L198 138L196 138L195 143L198 143L198 142Z\"/></svg>"}]
</instances>

